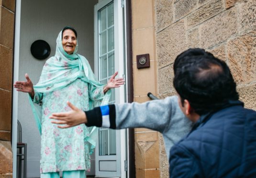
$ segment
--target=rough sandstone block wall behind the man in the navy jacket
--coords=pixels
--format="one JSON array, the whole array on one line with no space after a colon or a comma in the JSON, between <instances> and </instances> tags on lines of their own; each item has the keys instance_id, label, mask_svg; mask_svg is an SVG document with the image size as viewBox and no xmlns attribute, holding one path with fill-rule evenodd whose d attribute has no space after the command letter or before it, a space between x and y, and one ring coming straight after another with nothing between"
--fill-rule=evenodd
<instances>
[{"instance_id":1,"label":"rough sandstone block wall behind the man in the navy jacket","mask_svg":"<svg viewBox=\"0 0 256 178\"><path fill-rule=\"evenodd\" d=\"M225 60L246 108L256 110L256 0L156 0L157 86L160 98L175 94L175 57L200 47ZM164 154L163 154L164 155ZM161 178L168 178L165 156Z\"/></svg>"}]
</instances>

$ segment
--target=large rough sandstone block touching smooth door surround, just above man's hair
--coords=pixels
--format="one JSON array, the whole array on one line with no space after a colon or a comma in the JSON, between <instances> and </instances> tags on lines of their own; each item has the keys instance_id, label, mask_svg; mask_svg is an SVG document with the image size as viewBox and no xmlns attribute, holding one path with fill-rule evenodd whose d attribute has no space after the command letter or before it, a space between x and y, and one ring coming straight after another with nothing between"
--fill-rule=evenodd
<instances>
[{"instance_id":1,"label":"large rough sandstone block touching smooth door surround, just above man's hair","mask_svg":"<svg viewBox=\"0 0 256 178\"><path fill-rule=\"evenodd\" d=\"M184 20L181 20L156 34L157 67L174 62L176 56L187 49Z\"/></svg>"}]
</instances>

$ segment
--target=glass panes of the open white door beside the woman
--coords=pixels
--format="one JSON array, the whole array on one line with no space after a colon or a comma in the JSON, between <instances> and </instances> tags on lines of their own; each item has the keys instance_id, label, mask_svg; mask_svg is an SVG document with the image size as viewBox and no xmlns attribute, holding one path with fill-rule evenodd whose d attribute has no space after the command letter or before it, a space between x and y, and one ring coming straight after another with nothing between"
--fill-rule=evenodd
<instances>
[{"instance_id":1,"label":"glass panes of the open white door beside the woman","mask_svg":"<svg viewBox=\"0 0 256 178\"><path fill-rule=\"evenodd\" d=\"M99 81L106 84L115 72L114 59L114 8L113 1L100 9L99 13ZM106 24L108 24L106 26ZM111 89L110 103L115 102L115 91ZM99 129L100 156L116 155L116 131Z\"/></svg>"}]
</instances>

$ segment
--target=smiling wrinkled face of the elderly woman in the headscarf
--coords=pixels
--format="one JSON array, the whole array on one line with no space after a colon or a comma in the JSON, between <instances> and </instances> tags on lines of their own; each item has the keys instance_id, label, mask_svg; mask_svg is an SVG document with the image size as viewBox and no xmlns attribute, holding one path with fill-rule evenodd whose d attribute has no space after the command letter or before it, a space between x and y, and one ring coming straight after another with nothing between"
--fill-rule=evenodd
<instances>
[{"instance_id":1,"label":"smiling wrinkled face of the elderly woman in the headscarf","mask_svg":"<svg viewBox=\"0 0 256 178\"><path fill-rule=\"evenodd\" d=\"M67 54L71 55L76 49L77 37L75 33L69 29L65 30L62 36L63 49Z\"/></svg>"}]
</instances>

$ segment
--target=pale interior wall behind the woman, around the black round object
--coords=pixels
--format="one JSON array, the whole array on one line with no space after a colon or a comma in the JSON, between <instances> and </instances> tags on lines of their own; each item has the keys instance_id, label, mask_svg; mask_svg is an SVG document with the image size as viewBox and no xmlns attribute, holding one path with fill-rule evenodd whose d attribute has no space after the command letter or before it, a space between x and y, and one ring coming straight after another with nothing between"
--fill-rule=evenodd
<instances>
[{"instance_id":1,"label":"pale interior wall behind the woman, around the black round object","mask_svg":"<svg viewBox=\"0 0 256 178\"><path fill-rule=\"evenodd\" d=\"M35 59L30 52L31 44L35 40L45 40L51 46L50 56L54 56L57 35L67 25L73 26L78 32L78 54L85 56L91 68L94 68L93 10L97 1L22 0L19 80L24 80L24 74L28 73L33 84L37 83L46 59ZM22 141L28 145L27 177L40 177L40 135L25 93L19 93L18 105ZM91 165L90 174L94 174L93 161Z\"/></svg>"}]
</instances>

